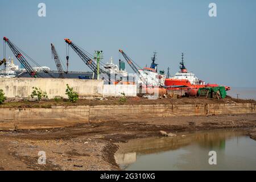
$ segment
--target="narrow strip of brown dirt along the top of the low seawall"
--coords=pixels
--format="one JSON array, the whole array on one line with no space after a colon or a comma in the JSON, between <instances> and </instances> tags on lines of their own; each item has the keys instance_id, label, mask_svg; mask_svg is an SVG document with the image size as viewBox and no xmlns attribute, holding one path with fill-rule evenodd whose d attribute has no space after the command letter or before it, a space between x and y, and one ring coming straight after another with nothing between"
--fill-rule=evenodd
<instances>
[{"instance_id":1,"label":"narrow strip of brown dirt along the top of the low seawall","mask_svg":"<svg viewBox=\"0 0 256 182\"><path fill-rule=\"evenodd\" d=\"M230 103L254 103L255 100L237 100L227 97L224 100L214 100L196 97L183 97L179 99L162 98L157 100L148 100L142 97L127 97L126 102L120 101L118 97L105 97L94 100L78 100L75 103L69 102L67 99L49 100L40 102L30 102L26 100L16 101L7 100L0 108L51 108L51 106L80 106L80 105L152 105L152 104L230 104Z\"/></svg>"}]
</instances>

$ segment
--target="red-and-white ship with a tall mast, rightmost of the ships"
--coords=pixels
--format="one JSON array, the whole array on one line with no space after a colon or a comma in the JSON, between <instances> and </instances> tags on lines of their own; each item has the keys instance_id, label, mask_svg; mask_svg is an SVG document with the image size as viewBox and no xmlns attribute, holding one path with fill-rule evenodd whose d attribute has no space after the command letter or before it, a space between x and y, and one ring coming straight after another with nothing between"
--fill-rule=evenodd
<instances>
[{"instance_id":1,"label":"red-and-white ship with a tall mast, rightmost of the ships","mask_svg":"<svg viewBox=\"0 0 256 182\"><path fill-rule=\"evenodd\" d=\"M168 74L169 75L169 74ZM168 90L172 89L199 89L204 87L219 86L218 84L205 84L195 76L193 72L187 71L184 65L184 54L181 54L180 72L177 72L174 77L167 77L164 85ZM225 86L226 90L230 90L229 86Z\"/></svg>"}]
</instances>

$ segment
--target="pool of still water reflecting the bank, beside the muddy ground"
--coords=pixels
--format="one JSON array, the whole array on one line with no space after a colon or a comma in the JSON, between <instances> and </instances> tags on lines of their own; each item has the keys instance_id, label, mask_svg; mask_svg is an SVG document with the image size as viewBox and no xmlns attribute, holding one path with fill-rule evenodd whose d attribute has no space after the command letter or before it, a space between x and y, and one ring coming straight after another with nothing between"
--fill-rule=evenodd
<instances>
[{"instance_id":1,"label":"pool of still water reflecting the bank, beside the muddy ground","mask_svg":"<svg viewBox=\"0 0 256 182\"><path fill-rule=\"evenodd\" d=\"M256 142L246 131L216 130L186 137L134 139L122 143L115 154L127 170L225 170L256 169ZM209 151L217 152L217 165L209 165Z\"/></svg>"}]
</instances>

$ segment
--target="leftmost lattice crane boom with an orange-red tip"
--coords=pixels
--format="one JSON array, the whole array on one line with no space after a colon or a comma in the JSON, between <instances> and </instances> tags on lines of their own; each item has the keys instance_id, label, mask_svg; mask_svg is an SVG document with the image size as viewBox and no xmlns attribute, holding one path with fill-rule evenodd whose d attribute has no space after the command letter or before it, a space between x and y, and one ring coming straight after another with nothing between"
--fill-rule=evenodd
<instances>
[{"instance_id":1,"label":"leftmost lattice crane boom with an orange-red tip","mask_svg":"<svg viewBox=\"0 0 256 182\"><path fill-rule=\"evenodd\" d=\"M36 78L36 72L34 71L34 69L31 67L31 65L27 62L27 60L25 59L25 57L20 53L18 47L16 47L8 38L4 37L3 40L5 41L5 43L8 44L8 46L10 47L11 51L13 51L14 56L19 60L20 64L22 64L24 66L24 68L26 69L27 73L33 77Z\"/></svg>"}]
</instances>

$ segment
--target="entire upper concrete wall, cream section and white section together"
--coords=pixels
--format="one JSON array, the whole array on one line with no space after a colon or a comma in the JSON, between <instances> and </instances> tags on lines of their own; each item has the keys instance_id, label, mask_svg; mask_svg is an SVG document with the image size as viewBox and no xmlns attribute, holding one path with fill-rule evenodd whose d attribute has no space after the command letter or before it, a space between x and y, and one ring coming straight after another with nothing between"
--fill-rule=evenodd
<instances>
[{"instance_id":1,"label":"entire upper concrete wall, cream section and white section together","mask_svg":"<svg viewBox=\"0 0 256 182\"><path fill-rule=\"evenodd\" d=\"M137 96L136 85L104 85L102 80L80 80L60 78L1 78L0 89L3 89L8 98L28 98L33 86L47 92L48 98L56 96L67 98L66 85L73 87L80 98L93 98L104 96Z\"/></svg>"}]
</instances>

